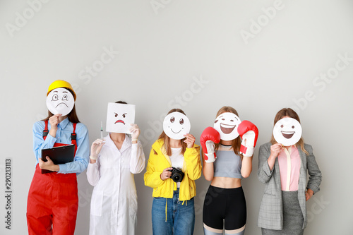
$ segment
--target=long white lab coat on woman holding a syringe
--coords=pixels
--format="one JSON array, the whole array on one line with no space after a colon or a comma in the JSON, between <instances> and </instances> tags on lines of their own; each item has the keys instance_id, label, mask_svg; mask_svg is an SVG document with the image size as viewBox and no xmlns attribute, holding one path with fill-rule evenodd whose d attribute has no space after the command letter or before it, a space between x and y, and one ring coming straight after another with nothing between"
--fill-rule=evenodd
<instances>
[{"instance_id":1,"label":"long white lab coat on woman holding a syringe","mask_svg":"<svg viewBox=\"0 0 353 235\"><path fill-rule=\"evenodd\" d=\"M97 162L88 164L87 179L94 186L90 205L90 235L135 234L137 194L133 174L145 168L141 143L125 136L118 150L110 135Z\"/></svg>"}]
</instances>

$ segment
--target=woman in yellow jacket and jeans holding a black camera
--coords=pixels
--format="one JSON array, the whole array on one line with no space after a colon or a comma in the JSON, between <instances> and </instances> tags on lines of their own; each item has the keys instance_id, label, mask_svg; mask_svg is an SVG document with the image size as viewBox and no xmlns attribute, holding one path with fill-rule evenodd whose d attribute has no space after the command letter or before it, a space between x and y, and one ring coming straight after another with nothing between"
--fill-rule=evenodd
<instances>
[{"instance_id":1,"label":"woman in yellow jacket and jeans holding a black camera","mask_svg":"<svg viewBox=\"0 0 353 235\"><path fill-rule=\"evenodd\" d=\"M172 114L167 115L170 123L179 123L182 128L187 119L185 113L181 109L172 109L168 114ZM144 176L145 186L153 188L153 234L193 234L195 180L200 178L202 169L200 147L194 144L195 137L189 133L180 140L169 137L166 132L169 130L164 128L152 145Z\"/></svg>"}]
</instances>

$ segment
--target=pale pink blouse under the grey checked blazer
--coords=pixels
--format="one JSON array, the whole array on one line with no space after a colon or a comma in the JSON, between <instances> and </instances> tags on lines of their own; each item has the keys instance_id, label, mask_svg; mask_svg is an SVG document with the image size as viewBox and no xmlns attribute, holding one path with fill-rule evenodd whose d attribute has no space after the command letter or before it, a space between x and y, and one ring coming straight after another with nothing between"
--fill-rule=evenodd
<instances>
[{"instance_id":1,"label":"pale pink blouse under the grey checked blazer","mask_svg":"<svg viewBox=\"0 0 353 235\"><path fill-rule=\"evenodd\" d=\"M294 145L288 150L283 147L283 151L278 155L278 163L280 164L282 191L297 191L301 165L298 148Z\"/></svg>"}]
</instances>

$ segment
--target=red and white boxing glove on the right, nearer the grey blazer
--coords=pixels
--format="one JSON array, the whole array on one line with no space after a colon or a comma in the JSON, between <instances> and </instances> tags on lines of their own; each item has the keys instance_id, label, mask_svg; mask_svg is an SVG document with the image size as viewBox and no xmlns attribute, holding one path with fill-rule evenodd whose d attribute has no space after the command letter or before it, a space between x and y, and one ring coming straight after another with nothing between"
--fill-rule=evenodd
<instances>
[{"instance_id":1,"label":"red and white boxing glove on the right, nearer the grey blazer","mask_svg":"<svg viewBox=\"0 0 353 235\"><path fill-rule=\"evenodd\" d=\"M251 121L241 121L238 126L238 133L242 139L240 152L244 157L251 157L253 155L253 148L258 141L258 128L251 123ZM246 140L246 143L245 143Z\"/></svg>"}]
</instances>

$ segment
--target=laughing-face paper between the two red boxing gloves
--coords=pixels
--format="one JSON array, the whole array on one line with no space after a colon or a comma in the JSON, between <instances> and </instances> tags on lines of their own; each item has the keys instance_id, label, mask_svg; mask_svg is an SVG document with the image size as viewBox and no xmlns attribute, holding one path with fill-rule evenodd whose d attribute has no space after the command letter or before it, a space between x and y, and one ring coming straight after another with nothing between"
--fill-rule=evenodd
<instances>
[{"instance_id":1,"label":"laughing-face paper between the two red boxing gloves","mask_svg":"<svg viewBox=\"0 0 353 235\"><path fill-rule=\"evenodd\" d=\"M221 140L234 140L239 136L238 126L240 123L239 116L227 112L217 116L213 128L220 133Z\"/></svg>"}]
</instances>

